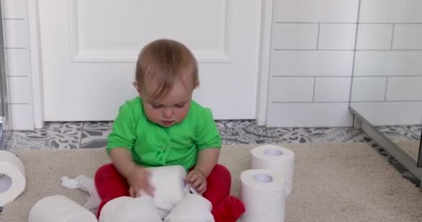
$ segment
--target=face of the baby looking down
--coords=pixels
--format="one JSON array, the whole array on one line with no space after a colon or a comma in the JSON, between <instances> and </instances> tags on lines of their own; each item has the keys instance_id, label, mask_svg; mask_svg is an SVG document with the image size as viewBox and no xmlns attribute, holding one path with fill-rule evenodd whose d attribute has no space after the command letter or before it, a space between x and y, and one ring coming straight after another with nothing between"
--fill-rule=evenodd
<instances>
[{"instance_id":1,"label":"face of the baby looking down","mask_svg":"<svg viewBox=\"0 0 422 222\"><path fill-rule=\"evenodd\" d=\"M171 92L159 100L149 98L148 86L146 86L145 93L140 93L149 121L160 126L170 127L185 119L189 112L193 90L187 89L181 81L176 81L174 84Z\"/></svg>"}]
</instances>

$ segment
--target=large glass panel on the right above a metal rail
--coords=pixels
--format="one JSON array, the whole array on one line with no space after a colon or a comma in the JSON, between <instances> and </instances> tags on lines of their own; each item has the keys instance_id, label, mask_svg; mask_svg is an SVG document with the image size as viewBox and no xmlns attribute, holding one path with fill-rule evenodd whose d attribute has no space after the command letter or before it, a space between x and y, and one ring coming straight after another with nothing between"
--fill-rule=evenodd
<instances>
[{"instance_id":1,"label":"large glass panel on the right above a metal rail","mask_svg":"<svg viewBox=\"0 0 422 222\"><path fill-rule=\"evenodd\" d=\"M351 90L351 110L419 166L421 10L419 0L360 1Z\"/></svg>"}]
</instances>

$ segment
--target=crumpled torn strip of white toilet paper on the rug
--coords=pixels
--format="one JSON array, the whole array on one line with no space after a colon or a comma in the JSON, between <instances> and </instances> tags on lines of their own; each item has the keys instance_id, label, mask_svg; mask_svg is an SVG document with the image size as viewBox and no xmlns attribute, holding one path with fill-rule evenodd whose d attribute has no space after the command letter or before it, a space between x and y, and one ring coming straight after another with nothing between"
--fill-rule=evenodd
<instances>
[{"instance_id":1,"label":"crumpled torn strip of white toilet paper on the rug","mask_svg":"<svg viewBox=\"0 0 422 222\"><path fill-rule=\"evenodd\" d=\"M87 197L87 201L83 205L83 207L92 210L94 208L99 207L101 203L101 198L96 191L94 179L88 178L85 175L77 176L74 179L69 179L67 176L60 178L62 181L62 186L68 189L82 189L83 191L87 191L90 195Z\"/></svg>"}]
</instances>

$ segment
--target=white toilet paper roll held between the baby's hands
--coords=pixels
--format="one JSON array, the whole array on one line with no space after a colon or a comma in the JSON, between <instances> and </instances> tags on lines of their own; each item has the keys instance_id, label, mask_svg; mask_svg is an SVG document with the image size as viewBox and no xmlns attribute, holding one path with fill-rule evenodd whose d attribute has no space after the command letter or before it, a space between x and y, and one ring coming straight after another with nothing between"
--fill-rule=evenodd
<instances>
[{"instance_id":1,"label":"white toilet paper roll held between the baby's hands","mask_svg":"<svg viewBox=\"0 0 422 222\"><path fill-rule=\"evenodd\" d=\"M162 219L169 215L185 193L186 171L182 166L150 167L154 203Z\"/></svg>"}]
</instances>

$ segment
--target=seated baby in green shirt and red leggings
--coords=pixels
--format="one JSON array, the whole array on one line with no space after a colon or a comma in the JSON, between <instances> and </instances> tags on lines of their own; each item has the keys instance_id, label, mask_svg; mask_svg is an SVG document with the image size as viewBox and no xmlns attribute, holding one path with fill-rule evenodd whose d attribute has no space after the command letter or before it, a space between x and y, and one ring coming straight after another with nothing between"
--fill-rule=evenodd
<instances>
[{"instance_id":1,"label":"seated baby in green shirt and red leggings","mask_svg":"<svg viewBox=\"0 0 422 222\"><path fill-rule=\"evenodd\" d=\"M191 51L174 40L147 44L133 86L139 96L121 105L108 136L112 163L96 171L97 216L114 198L136 197L141 190L153 196L145 167L181 165L186 182L212 203L215 221L236 221L244 205L230 196L230 173L217 164L221 136L212 112L192 100L199 77Z\"/></svg>"}]
</instances>

